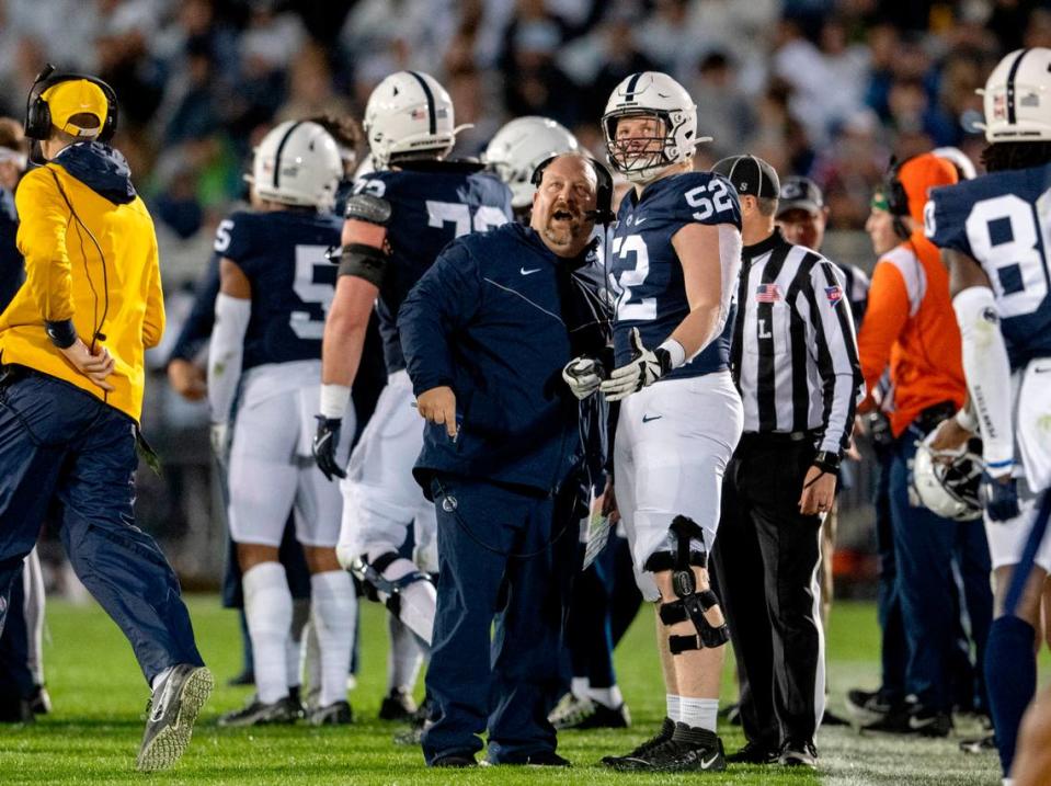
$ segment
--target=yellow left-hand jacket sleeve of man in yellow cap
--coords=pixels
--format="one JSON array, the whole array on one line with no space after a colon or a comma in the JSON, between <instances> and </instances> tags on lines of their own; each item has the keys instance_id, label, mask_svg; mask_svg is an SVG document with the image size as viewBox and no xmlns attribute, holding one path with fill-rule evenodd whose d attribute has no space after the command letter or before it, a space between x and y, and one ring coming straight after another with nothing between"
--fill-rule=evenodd
<instances>
[{"instance_id":1,"label":"yellow left-hand jacket sleeve of man in yellow cap","mask_svg":"<svg viewBox=\"0 0 1051 786\"><path fill-rule=\"evenodd\" d=\"M41 168L22 179L14 197L20 217L16 243L25 260L25 286L48 335L57 345L69 346L77 340L71 264L66 248L70 215L53 175Z\"/></svg>"}]
</instances>

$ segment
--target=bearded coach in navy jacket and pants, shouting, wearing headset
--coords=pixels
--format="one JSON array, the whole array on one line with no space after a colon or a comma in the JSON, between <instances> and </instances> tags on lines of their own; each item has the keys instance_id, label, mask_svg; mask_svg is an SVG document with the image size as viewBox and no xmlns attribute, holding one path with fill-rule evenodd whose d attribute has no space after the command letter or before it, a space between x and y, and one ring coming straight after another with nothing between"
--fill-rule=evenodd
<instances>
[{"instance_id":1,"label":"bearded coach in navy jacket and pants, shouting, wearing headset","mask_svg":"<svg viewBox=\"0 0 1051 786\"><path fill-rule=\"evenodd\" d=\"M490 763L569 764L547 720L583 513L579 406L562 368L606 344L578 271L613 189L579 153L548 159L533 181L530 225L449 244L398 320L429 421L414 474L438 522L432 766L473 765L487 724Z\"/></svg>"}]
</instances>

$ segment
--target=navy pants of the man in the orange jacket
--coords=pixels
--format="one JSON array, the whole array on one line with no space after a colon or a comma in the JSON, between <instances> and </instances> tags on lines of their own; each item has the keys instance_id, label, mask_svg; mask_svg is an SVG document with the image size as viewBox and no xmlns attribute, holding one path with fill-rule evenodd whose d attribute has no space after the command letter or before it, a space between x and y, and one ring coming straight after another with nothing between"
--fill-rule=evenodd
<instances>
[{"instance_id":1,"label":"navy pants of the man in the orange jacket","mask_svg":"<svg viewBox=\"0 0 1051 786\"><path fill-rule=\"evenodd\" d=\"M981 519L953 522L910 504L911 465L919 438L921 432L906 430L893 446L890 467L895 586L909 650L905 687L923 706L950 711L962 616L978 662L984 656L993 617L992 565ZM975 692L980 688L969 686L971 702Z\"/></svg>"}]
</instances>

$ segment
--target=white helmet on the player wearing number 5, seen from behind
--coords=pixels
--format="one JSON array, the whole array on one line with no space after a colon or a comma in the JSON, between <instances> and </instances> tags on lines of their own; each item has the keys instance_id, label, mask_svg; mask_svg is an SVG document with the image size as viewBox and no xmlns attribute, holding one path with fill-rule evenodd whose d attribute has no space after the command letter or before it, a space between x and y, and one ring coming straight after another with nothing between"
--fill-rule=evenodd
<instances>
[{"instance_id":1,"label":"white helmet on the player wearing number 5, seen from behind","mask_svg":"<svg viewBox=\"0 0 1051 786\"><path fill-rule=\"evenodd\" d=\"M317 123L286 121L255 148L252 187L263 200L331 210L343 178L335 139Z\"/></svg>"}]
</instances>

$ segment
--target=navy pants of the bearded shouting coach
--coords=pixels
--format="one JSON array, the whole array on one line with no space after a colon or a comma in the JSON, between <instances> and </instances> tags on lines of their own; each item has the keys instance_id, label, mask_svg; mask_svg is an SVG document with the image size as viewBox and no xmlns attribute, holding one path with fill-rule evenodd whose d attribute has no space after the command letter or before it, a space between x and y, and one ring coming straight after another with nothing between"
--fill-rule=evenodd
<instances>
[{"instance_id":1,"label":"navy pants of the bearded shouting coach","mask_svg":"<svg viewBox=\"0 0 1051 786\"><path fill-rule=\"evenodd\" d=\"M426 676L434 725L423 736L424 756L430 764L473 754L487 728L494 763L553 751L547 715L560 688L576 562L573 499L448 476L435 479L432 492L438 588Z\"/></svg>"}]
</instances>

